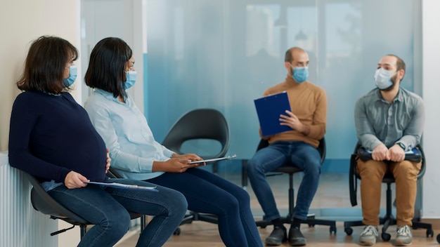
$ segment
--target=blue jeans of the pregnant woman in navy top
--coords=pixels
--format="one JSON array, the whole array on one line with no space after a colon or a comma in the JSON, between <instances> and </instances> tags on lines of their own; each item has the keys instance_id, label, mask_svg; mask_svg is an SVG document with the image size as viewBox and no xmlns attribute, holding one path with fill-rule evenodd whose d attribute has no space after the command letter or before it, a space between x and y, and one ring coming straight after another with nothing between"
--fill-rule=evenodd
<instances>
[{"instance_id":1,"label":"blue jeans of the pregnant woman in navy top","mask_svg":"<svg viewBox=\"0 0 440 247\"><path fill-rule=\"evenodd\" d=\"M110 179L109 182L154 186L149 182L122 178ZM95 225L84 235L78 246L114 246L129 229L128 211L155 215L139 236L136 246L162 246L179 227L188 203L185 196L174 189L161 186L157 186L157 189L159 192L148 192L99 185L67 189L61 185L49 190L48 194Z\"/></svg>"}]
</instances>

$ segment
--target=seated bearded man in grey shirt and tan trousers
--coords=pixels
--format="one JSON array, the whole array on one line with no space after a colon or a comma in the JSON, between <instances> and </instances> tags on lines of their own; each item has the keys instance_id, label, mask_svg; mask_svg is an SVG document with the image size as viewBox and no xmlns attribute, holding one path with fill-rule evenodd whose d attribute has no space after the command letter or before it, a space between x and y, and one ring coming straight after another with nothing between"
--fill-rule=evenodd
<instances>
[{"instance_id":1,"label":"seated bearded man in grey shirt and tan trousers","mask_svg":"<svg viewBox=\"0 0 440 247\"><path fill-rule=\"evenodd\" d=\"M356 101L354 120L358 141L372 151L373 159L357 161L361 176L361 201L365 228L359 243L376 242L379 225L380 189L385 173L396 180L397 236L396 246L406 246L413 236L410 231L414 216L417 176L422 163L405 160L405 152L420 143L425 122L422 98L401 88L405 62L396 55L385 55L377 64L377 88Z\"/></svg>"}]
</instances>

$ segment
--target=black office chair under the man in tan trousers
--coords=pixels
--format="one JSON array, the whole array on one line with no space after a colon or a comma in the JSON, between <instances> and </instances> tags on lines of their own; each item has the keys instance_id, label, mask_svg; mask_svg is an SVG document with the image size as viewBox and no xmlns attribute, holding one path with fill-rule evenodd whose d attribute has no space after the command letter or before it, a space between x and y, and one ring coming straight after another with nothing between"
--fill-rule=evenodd
<instances>
[{"instance_id":1,"label":"black office chair under the man in tan trousers","mask_svg":"<svg viewBox=\"0 0 440 247\"><path fill-rule=\"evenodd\" d=\"M358 150L361 145L358 143L356 144L356 147L354 149L354 153L351 154L350 159L350 168L349 168L349 190L350 190L350 201L351 206L356 206L357 199L357 180L361 180L361 177L356 173L356 165L357 165L357 156L358 156ZM425 174L426 170L426 159L425 159L425 153L423 152L423 149L420 145L417 147L420 150L420 153L422 154L422 167L420 168L420 172L418 174L418 179L422 178ZM387 229L390 225L396 225L396 219L394 218L394 215L392 215L392 189L391 184L393 182L396 182L394 180L394 176L392 173L386 173L384 175L384 178L382 179L382 182L387 184L387 213L384 215L384 217L380 218L380 225L383 225L382 227L382 240L383 241L389 241L391 239L391 235L387 233ZM347 233L347 235L351 235L353 233L353 229L351 227L357 227L364 225L362 220L355 220L355 221L346 221L344 222L344 232ZM413 229L427 229L426 230L426 236L434 236L434 231L432 230L432 225L424 222L420 222L420 218L414 218L413 219Z\"/></svg>"}]
</instances>

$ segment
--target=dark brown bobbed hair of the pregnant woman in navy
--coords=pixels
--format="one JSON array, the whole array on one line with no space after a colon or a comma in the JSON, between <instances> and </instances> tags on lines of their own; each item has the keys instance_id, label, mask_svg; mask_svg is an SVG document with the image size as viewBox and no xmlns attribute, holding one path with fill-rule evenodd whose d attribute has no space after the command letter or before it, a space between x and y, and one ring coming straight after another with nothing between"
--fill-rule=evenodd
<instances>
[{"instance_id":1,"label":"dark brown bobbed hair of the pregnant woman in navy","mask_svg":"<svg viewBox=\"0 0 440 247\"><path fill-rule=\"evenodd\" d=\"M67 92L65 65L77 58L78 50L69 41L56 36L40 36L32 41L17 86L22 91Z\"/></svg>"}]
</instances>

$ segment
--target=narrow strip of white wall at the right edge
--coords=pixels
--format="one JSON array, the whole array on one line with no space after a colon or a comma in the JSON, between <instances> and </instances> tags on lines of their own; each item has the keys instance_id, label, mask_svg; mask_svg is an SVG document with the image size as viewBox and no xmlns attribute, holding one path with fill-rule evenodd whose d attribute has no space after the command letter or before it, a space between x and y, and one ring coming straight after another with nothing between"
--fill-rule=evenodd
<instances>
[{"instance_id":1,"label":"narrow strip of white wall at the right edge","mask_svg":"<svg viewBox=\"0 0 440 247\"><path fill-rule=\"evenodd\" d=\"M427 172L423 178L423 218L440 218L440 1L424 0L422 3L423 39L423 99L426 123L423 148L427 159Z\"/></svg>"}]
</instances>

